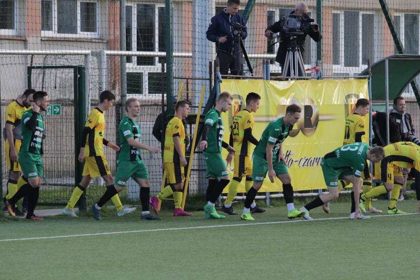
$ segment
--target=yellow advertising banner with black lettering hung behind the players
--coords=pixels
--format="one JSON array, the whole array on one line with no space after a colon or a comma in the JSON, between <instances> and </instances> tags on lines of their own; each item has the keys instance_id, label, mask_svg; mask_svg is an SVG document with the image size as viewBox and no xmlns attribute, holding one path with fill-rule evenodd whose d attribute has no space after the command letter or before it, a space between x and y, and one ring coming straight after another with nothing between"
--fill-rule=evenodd
<instances>
[{"instance_id":1,"label":"yellow advertising banner with black lettering hung behind the players","mask_svg":"<svg viewBox=\"0 0 420 280\"><path fill-rule=\"evenodd\" d=\"M257 140L271 121L284 116L288 105L301 106L301 118L282 144L294 190L326 188L320 167L321 158L343 145L345 120L354 112L357 99L369 99L367 80L223 80L220 91L227 91L234 97L230 110L222 113L224 141L227 143L232 119L245 108L245 98L249 92L261 96L259 109L253 113L253 135ZM364 119L366 131L363 140L368 142L369 115ZM222 156L227 156L225 149ZM233 168L232 162L228 165L231 178ZM245 191L244 184L245 178L238 192ZM226 187L224 192L227 190ZM277 178L273 184L266 176L260 192L280 190L281 181Z\"/></svg>"}]
</instances>

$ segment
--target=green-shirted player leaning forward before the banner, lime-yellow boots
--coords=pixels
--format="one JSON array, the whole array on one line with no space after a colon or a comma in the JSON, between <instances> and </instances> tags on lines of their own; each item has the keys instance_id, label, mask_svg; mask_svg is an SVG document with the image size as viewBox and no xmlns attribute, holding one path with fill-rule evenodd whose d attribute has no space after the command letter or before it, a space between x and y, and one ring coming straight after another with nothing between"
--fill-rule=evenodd
<instances>
[{"instance_id":1,"label":"green-shirted player leaning forward before the banner, lime-yellow boots","mask_svg":"<svg viewBox=\"0 0 420 280\"><path fill-rule=\"evenodd\" d=\"M287 217L293 219L305 214L304 211L298 211L294 207L293 187L282 151L282 143L289 136L293 125L299 121L301 111L302 109L298 105L287 106L285 116L269 123L262 133L261 139L255 147L252 162L252 180L254 182L246 193L241 219L254 220L250 212L251 204L267 173L272 183L274 183L275 177L278 177L283 184L284 201L288 210Z\"/></svg>"}]
</instances>

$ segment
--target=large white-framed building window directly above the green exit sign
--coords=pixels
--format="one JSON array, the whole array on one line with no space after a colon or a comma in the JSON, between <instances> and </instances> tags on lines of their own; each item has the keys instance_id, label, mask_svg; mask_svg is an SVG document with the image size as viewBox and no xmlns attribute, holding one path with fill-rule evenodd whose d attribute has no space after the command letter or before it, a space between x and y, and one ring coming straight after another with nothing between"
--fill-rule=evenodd
<instances>
[{"instance_id":1,"label":"large white-framed building window directly above the green exit sign","mask_svg":"<svg viewBox=\"0 0 420 280\"><path fill-rule=\"evenodd\" d=\"M98 15L97 1L41 1L41 28L44 35L98 35Z\"/></svg>"}]
</instances>

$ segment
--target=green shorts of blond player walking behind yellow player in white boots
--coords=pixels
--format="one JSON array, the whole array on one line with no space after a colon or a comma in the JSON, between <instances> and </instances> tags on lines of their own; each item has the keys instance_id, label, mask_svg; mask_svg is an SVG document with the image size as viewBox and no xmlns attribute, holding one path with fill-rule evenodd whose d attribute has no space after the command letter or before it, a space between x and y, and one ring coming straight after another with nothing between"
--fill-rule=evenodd
<instances>
[{"instance_id":1,"label":"green shorts of blond player walking behind yellow player in white boots","mask_svg":"<svg viewBox=\"0 0 420 280\"><path fill-rule=\"evenodd\" d=\"M127 184L127 181L128 179L130 179L130 177L132 177L133 179L149 179L149 173L147 172L146 165L142 160L117 161L117 174L115 175L114 184L120 187L124 187Z\"/></svg>"}]
</instances>

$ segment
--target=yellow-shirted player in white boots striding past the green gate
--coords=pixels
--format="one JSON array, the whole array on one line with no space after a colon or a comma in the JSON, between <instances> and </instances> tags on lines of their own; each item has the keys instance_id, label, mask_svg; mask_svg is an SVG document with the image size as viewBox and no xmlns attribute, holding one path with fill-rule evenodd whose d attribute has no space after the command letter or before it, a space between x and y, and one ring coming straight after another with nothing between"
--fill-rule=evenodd
<instances>
[{"instance_id":1,"label":"yellow-shirted player in white boots striding past the green gate","mask_svg":"<svg viewBox=\"0 0 420 280\"><path fill-rule=\"evenodd\" d=\"M114 101L115 96L112 92L109 90L103 91L99 96L99 105L93 109L88 116L83 129L80 153L78 157L80 163L82 163L83 160L86 161L83 168L83 177L80 183L74 188L66 208L63 209L62 212L64 215L77 217L73 208L82 193L86 191L86 188L89 186L93 177L102 176L105 180L106 188L114 187L114 178L111 175L104 155L104 145L112 148L116 152L120 150L117 145L104 139L104 111L112 107ZM118 211L118 216L124 216L125 214L136 210L136 208L124 208L118 194L112 197L112 202Z\"/></svg>"}]
</instances>

